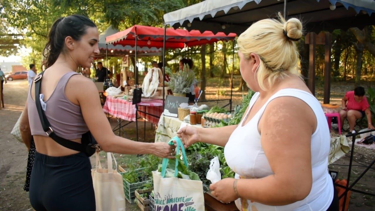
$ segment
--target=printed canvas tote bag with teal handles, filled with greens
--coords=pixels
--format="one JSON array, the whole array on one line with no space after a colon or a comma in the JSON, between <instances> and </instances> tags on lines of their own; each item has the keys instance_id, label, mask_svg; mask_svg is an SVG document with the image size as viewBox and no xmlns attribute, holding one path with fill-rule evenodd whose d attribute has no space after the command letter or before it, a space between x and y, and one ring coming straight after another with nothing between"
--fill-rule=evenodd
<instances>
[{"instance_id":1,"label":"printed canvas tote bag with teal handles, filled with greens","mask_svg":"<svg viewBox=\"0 0 375 211\"><path fill-rule=\"evenodd\" d=\"M186 154L181 140L176 136L172 140L177 142L176 152L181 148L184 163L187 166ZM169 144L173 144L172 140ZM201 181L177 178L177 159L175 177L164 178L168 158L163 158L162 172L153 173L154 200L156 211L204 211L203 185Z\"/></svg>"}]
</instances>

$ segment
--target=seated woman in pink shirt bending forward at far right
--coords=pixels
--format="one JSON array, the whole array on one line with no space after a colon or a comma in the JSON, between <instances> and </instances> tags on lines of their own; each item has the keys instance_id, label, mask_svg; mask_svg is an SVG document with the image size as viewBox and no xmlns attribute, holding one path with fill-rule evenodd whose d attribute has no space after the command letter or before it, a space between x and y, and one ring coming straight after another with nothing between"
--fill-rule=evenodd
<instances>
[{"instance_id":1,"label":"seated woman in pink shirt bending forward at far right","mask_svg":"<svg viewBox=\"0 0 375 211\"><path fill-rule=\"evenodd\" d=\"M349 133L356 133L354 126L356 120L366 115L368 128L375 129L371 123L370 105L365 96L365 88L362 86L357 87L354 91L349 91L342 98L342 110L340 111L341 127L344 125L345 118L349 122Z\"/></svg>"}]
</instances>

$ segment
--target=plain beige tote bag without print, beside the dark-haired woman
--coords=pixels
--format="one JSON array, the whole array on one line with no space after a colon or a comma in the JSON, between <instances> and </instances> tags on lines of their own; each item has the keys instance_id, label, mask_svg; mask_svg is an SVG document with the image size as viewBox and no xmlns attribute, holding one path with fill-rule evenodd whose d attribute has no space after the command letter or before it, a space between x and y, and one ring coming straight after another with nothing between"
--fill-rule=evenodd
<instances>
[{"instance_id":1,"label":"plain beige tote bag without print, beside the dark-haired woman","mask_svg":"<svg viewBox=\"0 0 375 211\"><path fill-rule=\"evenodd\" d=\"M112 157L115 169L112 165ZM93 179L96 211L125 211L125 195L123 180L117 172L117 162L113 153L107 152L108 169L103 169L96 152L96 167L91 170Z\"/></svg>"}]
</instances>

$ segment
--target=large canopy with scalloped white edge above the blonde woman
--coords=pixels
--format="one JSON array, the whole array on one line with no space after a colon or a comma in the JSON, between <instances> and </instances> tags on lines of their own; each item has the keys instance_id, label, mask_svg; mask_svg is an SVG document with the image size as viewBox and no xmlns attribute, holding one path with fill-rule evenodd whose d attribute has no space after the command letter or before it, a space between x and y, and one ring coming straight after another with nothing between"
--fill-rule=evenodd
<instances>
[{"instance_id":1,"label":"large canopy with scalloped white edge above the blonde woman","mask_svg":"<svg viewBox=\"0 0 375 211\"><path fill-rule=\"evenodd\" d=\"M375 23L374 0L288 0L286 5L287 17L302 19L308 32ZM163 18L174 28L240 34L255 21L276 17L276 11L284 11L283 0L205 0Z\"/></svg>"}]
</instances>

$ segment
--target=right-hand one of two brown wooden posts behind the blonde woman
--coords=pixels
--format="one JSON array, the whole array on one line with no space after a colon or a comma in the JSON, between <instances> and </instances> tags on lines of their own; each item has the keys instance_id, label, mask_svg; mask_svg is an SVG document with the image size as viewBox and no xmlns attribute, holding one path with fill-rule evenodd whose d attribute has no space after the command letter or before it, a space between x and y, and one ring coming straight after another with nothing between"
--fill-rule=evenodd
<instances>
[{"instance_id":1,"label":"right-hand one of two brown wooden posts behind the blonde woman","mask_svg":"<svg viewBox=\"0 0 375 211\"><path fill-rule=\"evenodd\" d=\"M329 32L325 33L326 43L324 45L324 104L329 104L331 92L331 46L332 36Z\"/></svg>"}]
</instances>

